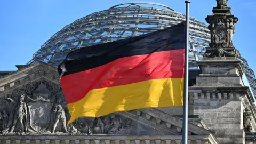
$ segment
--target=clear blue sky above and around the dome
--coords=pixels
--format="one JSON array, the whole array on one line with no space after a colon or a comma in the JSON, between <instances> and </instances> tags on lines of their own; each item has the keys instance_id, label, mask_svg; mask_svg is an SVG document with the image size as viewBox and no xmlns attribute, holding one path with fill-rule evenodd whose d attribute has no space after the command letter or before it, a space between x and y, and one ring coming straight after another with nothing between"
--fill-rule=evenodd
<instances>
[{"instance_id":1,"label":"clear blue sky above and around the dome","mask_svg":"<svg viewBox=\"0 0 256 144\"><path fill-rule=\"evenodd\" d=\"M17 70L15 65L25 65L47 39L76 19L109 9L119 3L132 1L1 0L0 70ZM147 1L162 3L175 11L185 13L183 0ZM206 15L212 14L211 10L215 5L215 0L191 0L190 16L205 22ZM247 59L249 66L256 70L256 1L229 0L229 6L239 18L233 39L234 45Z\"/></svg>"}]
</instances>

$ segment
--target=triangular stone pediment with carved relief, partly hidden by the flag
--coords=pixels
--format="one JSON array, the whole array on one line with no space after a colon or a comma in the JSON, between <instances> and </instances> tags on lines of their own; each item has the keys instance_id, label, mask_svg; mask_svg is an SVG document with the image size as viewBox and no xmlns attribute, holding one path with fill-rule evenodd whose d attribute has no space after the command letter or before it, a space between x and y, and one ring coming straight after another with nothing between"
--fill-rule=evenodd
<instances>
[{"instance_id":1,"label":"triangular stone pediment with carved relief, partly hidden by the flag","mask_svg":"<svg viewBox=\"0 0 256 144\"><path fill-rule=\"evenodd\" d=\"M158 109L82 117L70 125L57 68L39 62L0 79L0 131L15 135L181 135L182 120ZM211 132L188 124L189 135ZM12 133L13 132L13 133Z\"/></svg>"}]
</instances>

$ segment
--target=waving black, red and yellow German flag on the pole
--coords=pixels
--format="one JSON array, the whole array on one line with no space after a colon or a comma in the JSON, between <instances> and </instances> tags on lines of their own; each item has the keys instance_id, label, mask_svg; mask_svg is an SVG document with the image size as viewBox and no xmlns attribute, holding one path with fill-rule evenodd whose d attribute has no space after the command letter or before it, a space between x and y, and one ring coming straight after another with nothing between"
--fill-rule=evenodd
<instances>
[{"instance_id":1,"label":"waving black, red and yellow German flag on the pole","mask_svg":"<svg viewBox=\"0 0 256 144\"><path fill-rule=\"evenodd\" d=\"M71 118L183 105L185 24L70 52L59 65Z\"/></svg>"}]
</instances>

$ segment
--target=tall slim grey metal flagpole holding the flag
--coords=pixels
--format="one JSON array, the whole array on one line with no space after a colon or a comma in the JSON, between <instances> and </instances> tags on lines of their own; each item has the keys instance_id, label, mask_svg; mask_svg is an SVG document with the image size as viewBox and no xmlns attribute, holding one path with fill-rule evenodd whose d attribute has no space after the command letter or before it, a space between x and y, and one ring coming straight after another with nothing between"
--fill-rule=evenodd
<instances>
[{"instance_id":1,"label":"tall slim grey metal flagpole holding the flag","mask_svg":"<svg viewBox=\"0 0 256 144\"><path fill-rule=\"evenodd\" d=\"M188 143L188 30L189 30L189 3L186 3L186 46L185 46L185 70L184 70L184 94L183 94L183 124L182 124L182 144Z\"/></svg>"}]
</instances>

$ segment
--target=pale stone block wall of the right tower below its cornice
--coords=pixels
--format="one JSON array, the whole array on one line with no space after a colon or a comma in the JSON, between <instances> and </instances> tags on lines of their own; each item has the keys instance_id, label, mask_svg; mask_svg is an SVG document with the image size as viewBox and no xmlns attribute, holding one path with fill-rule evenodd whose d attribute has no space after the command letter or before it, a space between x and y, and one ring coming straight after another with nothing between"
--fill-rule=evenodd
<instances>
[{"instance_id":1,"label":"pale stone block wall of the right tower below its cornice","mask_svg":"<svg viewBox=\"0 0 256 144\"><path fill-rule=\"evenodd\" d=\"M243 104L239 93L193 93L199 115L220 143L243 143Z\"/></svg>"}]
</instances>

